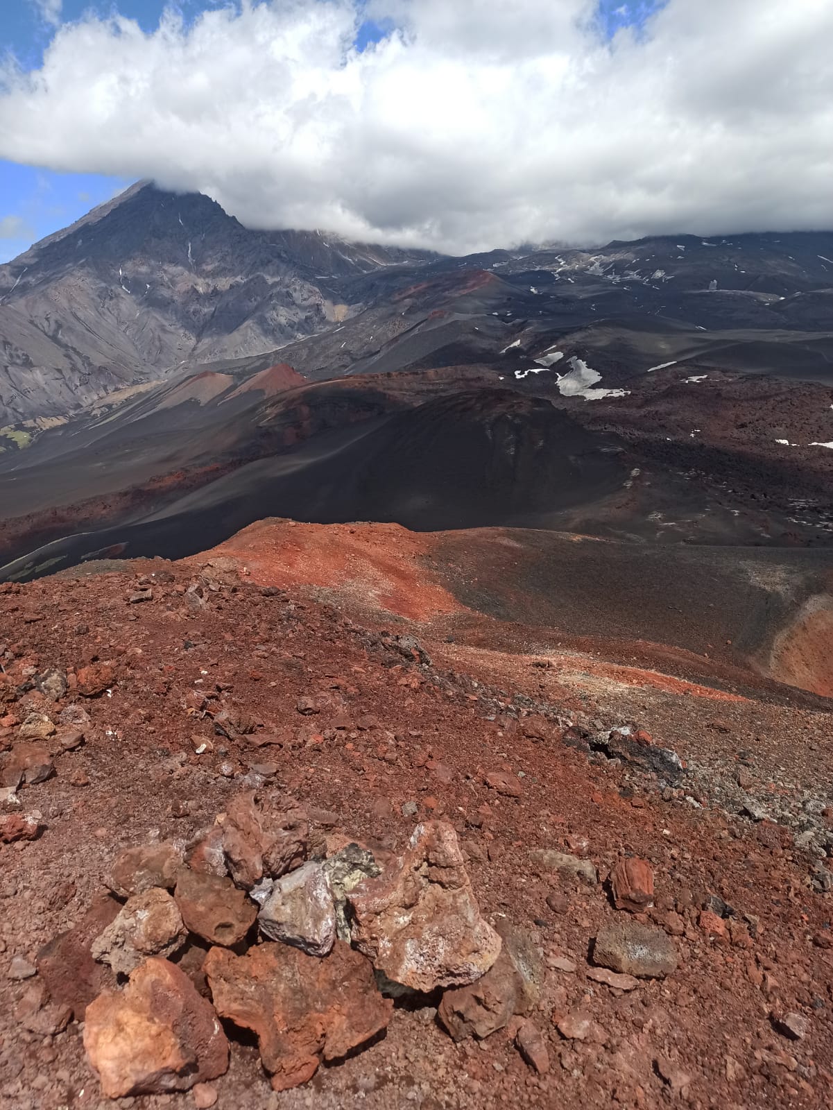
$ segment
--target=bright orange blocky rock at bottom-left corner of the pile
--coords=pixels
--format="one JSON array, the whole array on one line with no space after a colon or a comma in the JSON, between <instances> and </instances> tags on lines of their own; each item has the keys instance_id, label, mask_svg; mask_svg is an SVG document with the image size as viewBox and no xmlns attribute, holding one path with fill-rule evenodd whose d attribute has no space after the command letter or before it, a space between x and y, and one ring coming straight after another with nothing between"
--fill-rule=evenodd
<instances>
[{"instance_id":1,"label":"bright orange blocky rock at bottom-left corner of the pile","mask_svg":"<svg viewBox=\"0 0 833 1110\"><path fill-rule=\"evenodd\" d=\"M228 1042L211 1003L160 957L136 968L123 991L90 1002L84 1048L111 1099L186 1091L228 1067Z\"/></svg>"}]
</instances>

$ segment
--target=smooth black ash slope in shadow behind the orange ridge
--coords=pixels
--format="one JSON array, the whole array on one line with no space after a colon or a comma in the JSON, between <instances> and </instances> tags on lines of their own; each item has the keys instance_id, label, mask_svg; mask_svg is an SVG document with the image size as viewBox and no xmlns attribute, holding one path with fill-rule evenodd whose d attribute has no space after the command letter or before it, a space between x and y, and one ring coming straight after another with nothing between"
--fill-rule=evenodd
<instances>
[{"instance_id":1,"label":"smooth black ash slope in shadow behind the orange ridge","mask_svg":"<svg viewBox=\"0 0 833 1110\"><path fill-rule=\"evenodd\" d=\"M546 401L457 393L312 436L241 466L135 523L58 541L7 566L17 579L105 554L180 557L263 516L397 521L420 529L535 526L620 488L611 436Z\"/></svg>"}]
</instances>

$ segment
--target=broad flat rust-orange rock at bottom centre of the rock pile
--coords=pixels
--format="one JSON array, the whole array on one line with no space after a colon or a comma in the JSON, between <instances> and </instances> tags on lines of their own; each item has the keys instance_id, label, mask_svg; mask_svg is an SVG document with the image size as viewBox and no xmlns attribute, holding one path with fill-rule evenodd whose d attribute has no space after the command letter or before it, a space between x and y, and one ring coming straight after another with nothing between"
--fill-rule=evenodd
<instances>
[{"instance_id":1,"label":"broad flat rust-orange rock at bottom centre of the rock pile","mask_svg":"<svg viewBox=\"0 0 833 1110\"><path fill-rule=\"evenodd\" d=\"M217 1012L257 1037L276 1091L305 1083L387 1027L393 1002L370 965L337 940L325 959L263 944L245 956L212 948L204 971Z\"/></svg>"}]
</instances>

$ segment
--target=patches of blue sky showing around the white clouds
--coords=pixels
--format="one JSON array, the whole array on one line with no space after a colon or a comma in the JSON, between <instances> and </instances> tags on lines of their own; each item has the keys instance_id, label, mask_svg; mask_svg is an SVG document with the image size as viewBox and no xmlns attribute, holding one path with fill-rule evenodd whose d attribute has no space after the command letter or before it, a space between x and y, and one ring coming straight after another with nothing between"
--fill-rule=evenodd
<instances>
[{"instance_id":1,"label":"patches of blue sky showing around the white clouds","mask_svg":"<svg viewBox=\"0 0 833 1110\"><path fill-rule=\"evenodd\" d=\"M40 67L43 50L49 44L53 29L42 16L49 2L0 0L0 43L26 70ZM143 29L152 30L165 7L173 7L186 20L192 20L202 11L227 2L176 0L166 4L165 0L63 0L61 18L71 21L90 10L102 16L118 11L138 20ZM599 0L601 27L612 36L622 27L638 26L661 2L663 0ZM357 44L364 48L382 34L383 29L367 22L362 27ZM16 258L32 242L65 228L130 183L100 174L55 173L0 160L0 263Z\"/></svg>"}]
</instances>

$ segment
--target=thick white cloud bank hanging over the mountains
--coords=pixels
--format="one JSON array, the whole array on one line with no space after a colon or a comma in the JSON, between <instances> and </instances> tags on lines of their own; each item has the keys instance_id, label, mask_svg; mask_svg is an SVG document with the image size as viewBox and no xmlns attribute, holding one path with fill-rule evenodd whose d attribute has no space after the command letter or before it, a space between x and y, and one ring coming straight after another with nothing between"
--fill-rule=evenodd
<instances>
[{"instance_id":1,"label":"thick white cloud bank hanging over the mountains","mask_svg":"<svg viewBox=\"0 0 833 1110\"><path fill-rule=\"evenodd\" d=\"M0 154L457 252L833 226L831 0L668 0L612 40L596 0L357 3L59 27L0 74Z\"/></svg>"}]
</instances>

